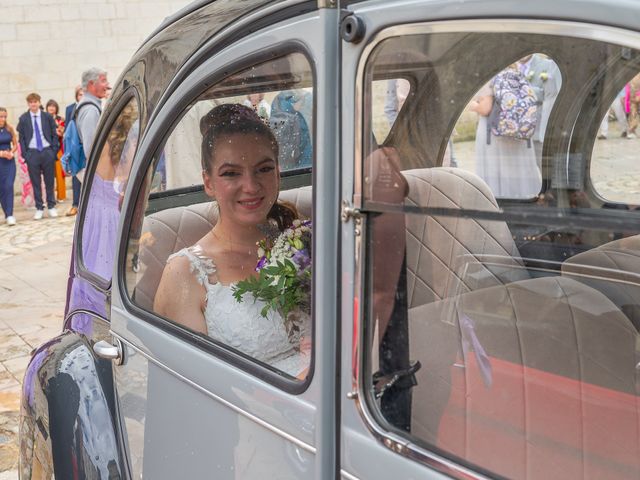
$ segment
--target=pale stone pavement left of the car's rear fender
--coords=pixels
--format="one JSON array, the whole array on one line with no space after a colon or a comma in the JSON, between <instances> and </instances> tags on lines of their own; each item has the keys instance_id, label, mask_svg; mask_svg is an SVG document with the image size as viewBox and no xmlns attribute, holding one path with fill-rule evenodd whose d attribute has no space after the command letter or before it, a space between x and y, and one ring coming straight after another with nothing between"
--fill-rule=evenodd
<instances>
[{"instance_id":1,"label":"pale stone pavement left of the car's rear fender","mask_svg":"<svg viewBox=\"0 0 640 480\"><path fill-rule=\"evenodd\" d=\"M75 217L32 220L19 205L18 224L0 224L0 480L18 478L20 389L30 352L62 328Z\"/></svg>"}]
</instances>

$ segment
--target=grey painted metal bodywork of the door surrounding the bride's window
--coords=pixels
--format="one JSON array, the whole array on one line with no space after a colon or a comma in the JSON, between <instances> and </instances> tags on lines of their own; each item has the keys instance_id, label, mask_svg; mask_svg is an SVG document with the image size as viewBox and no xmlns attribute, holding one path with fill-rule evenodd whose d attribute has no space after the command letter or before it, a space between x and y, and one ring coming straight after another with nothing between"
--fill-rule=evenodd
<instances>
[{"instance_id":1,"label":"grey painted metal bodywork of the door surrounding the bride's window","mask_svg":"<svg viewBox=\"0 0 640 480\"><path fill-rule=\"evenodd\" d=\"M151 126L145 133L145 138L138 147L137 159L150 160L150 155L155 150L155 142L164 138L162 133L163 124L171 124L175 118L173 109L181 108L184 103L183 98L190 95L189 92L201 89L206 77L210 77L213 72L233 64L235 59L249 58L265 45L282 45L283 48L302 48L308 52L314 69L325 72L327 76L336 74L335 68L329 67L324 57L319 55L323 48L335 48L335 40L326 47L307 43L301 40L305 32L309 38L322 38L321 29L327 25L333 25L336 21L328 19L326 15L336 15L333 12L318 12L299 17L296 21L289 21L282 26L275 26L267 33L257 34L256 38L247 37L244 41L227 47L212 56L196 68L180 87L167 98L163 112L158 114ZM290 39L296 39L291 42ZM333 45L332 45L333 44ZM295 45L299 45L296 47ZM320 68L322 67L322 68ZM329 84L327 80L318 81L318 95L324 98L335 97L335 92L323 91L320 85ZM319 105L315 118L317 119L318 135L330 135L330 131L335 129L335 122L331 117L335 108L331 104ZM318 146L316 150L317 158L323 158L323 163L327 165L324 170L329 178L316 178L316 182L324 185L335 185L335 168L329 166L330 162L336 162L335 154L331 150L326 151L323 146ZM134 166L137 171L132 172L132 177L140 178L146 170L148 163L140 163ZM324 168L324 167L323 167ZM136 185L132 184L131 188ZM323 187L328 189L329 187ZM127 198L135 200L136 195L127 193ZM330 203L326 199L326 205ZM337 208L337 198L333 200ZM128 205L125 205L126 209ZM319 212L316 222L319 225L326 224L325 231L331 235L332 228L335 228L336 217L332 214L334 209L326 209ZM331 225L334 225L333 227ZM334 235L335 238L335 235ZM335 255L335 244L318 244L318 254L327 249L327 256ZM331 271L335 268L327 264L326 268ZM328 273L326 273L328 274ZM115 336L123 341L125 358L128 361L120 367L116 367L115 376L122 416L127 425L128 451L145 452L132 453L131 463L133 474L144 469L147 472L169 472L171 468L184 468L189 465L188 476L198 477L205 472L221 466L220 474L232 475L233 472L243 471L246 478L259 478L257 472L263 472L268 466L270 471L282 472L285 478L326 478L325 469L332 469L333 460L329 462L318 462L315 452L318 450L318 442L323 435L325 442L333 445L333 425L335 413L330 402L322 403L328 412L318 412L316 405L320 405L318 398L321 392L326 395L333 395L335 387L335 377L333 368L325 370L324 382L330 382L327 387L320 384L317 377L318 370L315 370L314 381L309 387L297 396L275 388L254 375L249 375L229 364L221 361L220 358L211 355L209 352L194 349L187 342L176 343L175 336L172 336L157 325L151 325L145 320L132 315L139 309L133 308L129 301L123 297L126 290L119 284L118 288L113 285L113 298L111 309L111 329ZM326 310L332 311L332 303L335 301L335 286L327 285L325 289L316 290L316 299L325 298L318 305L322 308L318 315L332 316ZM333 301L331 299L334 299ZM127 308L128 307L128 308ZM333 307L335 308L335 307ZM334 327L326 324L329 335L332 335ZM322 335L322 336L321 336ZM324 337L324 339L323 339ZM318 331L316 345L327 342L335 345L332 337L327 338L327 334ZM233 352L221 352L225 358L242 361ZM244 361L247 364L246 360ZM323 371L326 367L322 367ZM255 370L255 368L254 368ZM142 372L142 373L140 373ZM133 387L134 379L143 379L143 384ZM266 377L265 377L266 378ZM233 379L233 380L231 380ZM162 397L158 394L151 395L150 392L171 391L182 386L189 385L189 393L177 397ZM135 388L140 392L135 399L129 395L128 399L123 399L122 395L127 395L128 388ZM299 389L299 387L298 387ZM127 393L123 393L127 392ZM324 394L324 393L323 393ZM126 401L125 401L126 400ZM145 412L144 420L136 423L139 412ZM169 422L158 422L158 419L173 415L173 412L180 411L178 417L179 424L171 425ZM330 415L330 420L323 419L323 415ZM149 419L153 418L151 425ZM136 423L135 430L143 431L144 435L135 435L134 427L129 425ZM216 424L219 426L216 427ZM182 427L180 426L182 425ZM182 429L189 425L188 430L181 430L184 434L170 435L173 428ZM222 426L222 428L220 428ZM327 433L321 434L318 428L326 428ZM186 427L184 427L186 428ZM321 430L322 430L321 429ZM153 431L153 435L150 432ZM187 435L187 431L189 435ZM224 432L224 434L222 434ZM170 439L167 437L170 436ZM144 438L143 438L144 437ZM154 439L159 439L155 441ZM162 440L160 440L162 439ZM269 449L258 448L260 445L268 445ZM250 462L244 454L230 457L231 451L253 452L249 455ZM275 449L275 450L274 450ZM323 448L323 452L327 449ZM329 457L332 457L332 448L329 449ZM274 452L281 452L275 454ZM289 452L289 453L286 453ZM153 459L153 466L147 466L145 457ZM197 459L197 460L194 460ZM229 459L234 460L229 464ZM162 459L162 460L158 460ZM166 463L165 463L166 462ZM226 462L226 463L225 463ZM275 462L275 463L274 463ZM273 464L273 465L271 465ZM226 473L225 473L226 472ZM288 472L288 473L287 473Z\"/></svg>"}]
</instances>

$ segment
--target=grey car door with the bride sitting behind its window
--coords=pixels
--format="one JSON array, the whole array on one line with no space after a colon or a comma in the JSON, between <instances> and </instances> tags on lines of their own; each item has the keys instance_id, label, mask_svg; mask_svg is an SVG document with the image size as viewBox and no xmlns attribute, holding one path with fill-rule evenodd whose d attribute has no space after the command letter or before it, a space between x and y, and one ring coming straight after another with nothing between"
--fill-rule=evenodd
<instances>
[{"instance_id":1,"label":"grey car door with the bride sitting behind its window","mask_svg":"<svg viewBox=\"0 0 640 480\"><path fill-rule=\"evenodd\" d=\"M336 253L336 27L337 11L320 9L203 56L139 146L111 307L111 333L122 348L114 367L118 408L134 478L332 476L336 287L321 279L335 278L337 265L315 259ZM215 216L201 185L200 120L218 103L243 103L249 94L272 101L285 91L295 93L306 125L297 135L311 141L313 165L283 172L282 195L302 205L321 232L314 236L313 346L302 380L154 310L166 259L210 230ZM318 192L322 208L314 206Z\"/></svg>"}]
</instances>

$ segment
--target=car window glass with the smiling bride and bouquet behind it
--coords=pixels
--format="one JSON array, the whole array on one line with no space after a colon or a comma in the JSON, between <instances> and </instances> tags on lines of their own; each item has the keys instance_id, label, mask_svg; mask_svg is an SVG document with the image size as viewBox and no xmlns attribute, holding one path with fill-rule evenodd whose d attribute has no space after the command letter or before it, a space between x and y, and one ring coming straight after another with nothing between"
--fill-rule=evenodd
<instances>
[{"instance_id":1,"label":"car window glass with the smiling bride and bouquet behind it","mask_svg":"<svg viewBox=\"0 0 640 480\"><path fill-rule=\"evenodd\" d=\"M312 138L313 76L299 53L243 69L191 102L140 193L126 265L134 304L305 378Z\"/></svg>"}]
</instances>

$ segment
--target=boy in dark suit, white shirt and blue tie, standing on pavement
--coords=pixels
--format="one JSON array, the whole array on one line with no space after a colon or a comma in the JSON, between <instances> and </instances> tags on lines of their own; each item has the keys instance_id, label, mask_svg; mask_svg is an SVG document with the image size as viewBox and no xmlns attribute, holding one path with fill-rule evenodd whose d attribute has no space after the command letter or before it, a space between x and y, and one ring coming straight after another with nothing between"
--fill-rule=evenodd
<instances>
[{"instance_id":1,"label":"boy in dark suit, white shirt and blue tie, standing on pavement","mask_svg":"<svg viewBox=\"0 0 640 480\"><path fill-rule=\"evenodd\" d=\"M44 213L41 176L44 177L49 216L57 217L53 181L56 154L60 144L56 134L56 122L51 115L40 109L40 95L37 93L27 95L27 104L29 110L20 116L17 130L36 201L36 213L33 218L40 220Z\"/></svg>"}]
</instances>

